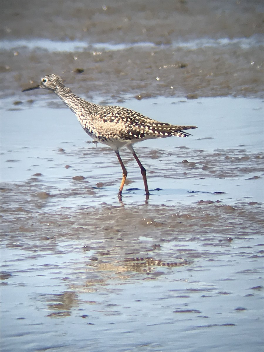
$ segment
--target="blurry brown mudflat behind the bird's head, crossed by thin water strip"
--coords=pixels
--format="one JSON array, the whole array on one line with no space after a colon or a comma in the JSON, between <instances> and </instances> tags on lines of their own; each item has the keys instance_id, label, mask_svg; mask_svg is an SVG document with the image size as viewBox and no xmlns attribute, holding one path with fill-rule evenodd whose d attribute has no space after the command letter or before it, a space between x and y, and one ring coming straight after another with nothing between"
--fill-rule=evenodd
<instances>
[{"instance_id":1,"label":"blurry brown mudflat behind the bird's head, crossed by thin water strip","mask_svg":"<svg viewBox=\"0 0 264 352\"><path fill-rule=\"evenodd\" d=\"M88 99L263 98L261 1L3 1L1 7L2 97L22 96L21 89L55 73Z\"/></svg>"}]
</instances>

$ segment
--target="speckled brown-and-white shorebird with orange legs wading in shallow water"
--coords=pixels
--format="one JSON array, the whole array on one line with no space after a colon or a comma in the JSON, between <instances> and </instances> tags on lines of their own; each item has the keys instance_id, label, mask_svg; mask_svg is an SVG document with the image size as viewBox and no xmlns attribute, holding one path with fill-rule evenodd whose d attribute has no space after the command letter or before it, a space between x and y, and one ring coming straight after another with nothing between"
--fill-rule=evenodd
<instances>
[{"instance_id":1,"label":"speckled brown-and-white shorebird with orange legs wading in shallow water","mask_svg":"<svg viewBox=\"0 0 264 352\"><path fill-rule=\"evenodd\" d=\"M127 147L132 152L141 170L146 195L149 195L146 169L139 161L133 144L152 138L188 137L190 133L184 132L184 130L197 128L196 126L177 126L159 122L120 106L97 105L88 102L72 93L69 88L64 86L61 77L54 74L44 76L37 86L24 89L23 92L38 88L52 90L56 93L73 111L82 128L90 137L114 150L123 172L118 192L119 197L121 197L127 177L127 170L119 155L121 147Z\"/></svg>"}]
</instances>

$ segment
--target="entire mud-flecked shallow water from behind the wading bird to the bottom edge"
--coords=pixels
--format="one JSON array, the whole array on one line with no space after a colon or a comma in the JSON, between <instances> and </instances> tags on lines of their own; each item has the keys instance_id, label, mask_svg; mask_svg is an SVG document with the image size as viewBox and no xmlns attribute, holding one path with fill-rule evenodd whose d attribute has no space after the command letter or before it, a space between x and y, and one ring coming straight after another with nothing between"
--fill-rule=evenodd
<instances>
[{"instance_id":1,"label":"entire mud-flecked shallow water from behind the wading bird to the bottom edge","mask_svg":"<svg viewBox=\"0 0 264 352\"><path fill-rule=\"evenodd\" d=\"M263 101L126 101L199 128L136 144L148 201L122 151L121 202L113 151L43 102L2 104L2 348L260 349Z\"/></svg>"}]
</instances>

